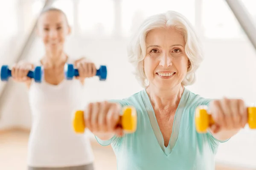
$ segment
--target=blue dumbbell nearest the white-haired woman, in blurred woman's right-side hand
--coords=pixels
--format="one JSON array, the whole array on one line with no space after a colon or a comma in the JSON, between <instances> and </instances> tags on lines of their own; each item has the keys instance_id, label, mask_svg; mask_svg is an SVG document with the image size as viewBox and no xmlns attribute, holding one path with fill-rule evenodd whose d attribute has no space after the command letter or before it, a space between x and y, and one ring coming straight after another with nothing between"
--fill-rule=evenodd
<instances>
[{"instance_id":1,"label":"blue dumbbell nearest the white-haired woman, in blurred woman's right-side hand","mask_svg":"<svg viewBox=\"0 0 256 170\"><path fill-rule=\"evenodd\" d=\"M64 67L64 72L65 77L68 80L73 79L74 76L79 76L78 69L75 69L73 64L66 63ZM107 78L107 67L105 65L101 65L99 67L99 70L96 71L96 76L99 77L100 81L105 81Z\"/></svg>"}]
</instances>

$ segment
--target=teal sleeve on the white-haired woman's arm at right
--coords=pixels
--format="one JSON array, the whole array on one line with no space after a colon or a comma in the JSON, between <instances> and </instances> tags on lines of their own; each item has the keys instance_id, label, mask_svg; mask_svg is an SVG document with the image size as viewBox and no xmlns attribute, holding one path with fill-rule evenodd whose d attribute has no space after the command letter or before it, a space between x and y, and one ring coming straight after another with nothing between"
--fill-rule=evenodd
<instances>
[{"instance_id":1,"label":"teal sleeve on the white-haired woman's arm at right","mask_svg":"<svg viewBox=\"0 0 256 170\"><path fill-rule=\"evenodd\" d=\"M209 103L212 101L213 99L202 99L198 105L207 105L209 106ZM210 144L210 147L212 148L212 151L215 152L215 148L218 147L219 143L224 143L224 142L227 142L229 139L227 140L218 140L216 139L212 133L208 130L208 132L206 133L206 138L207 138L207 141L209 142Z\"/></svg>"}]
</instances>

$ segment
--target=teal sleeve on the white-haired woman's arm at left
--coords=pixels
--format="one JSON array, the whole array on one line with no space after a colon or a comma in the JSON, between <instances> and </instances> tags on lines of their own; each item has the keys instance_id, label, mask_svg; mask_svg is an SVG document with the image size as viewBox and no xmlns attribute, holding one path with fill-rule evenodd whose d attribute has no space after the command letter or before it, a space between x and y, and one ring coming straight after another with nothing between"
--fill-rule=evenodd
<instances>
[{"instance_id":1,"label":"teal sleeve on the white-haired woman's arm at left","mask_svg":"<svg viewBox=\"0 0 256 170\"><path fill-rule=\"evenodd\" d=\"M124 99L123 100L109 100L109 102L117 102L117 103L119 103L119 105L121 105L121 107L128 105L128 102L126 102ZM108 139L108 140L99 139L97 136L95 136L95 138L96 138L97 142L102 146L108 146L110 144L119 146L119 144L121 144L122 139L123 139L123 137L117 137L116 135L114 135L111 139Z\"/></svg>"}]
</instances>

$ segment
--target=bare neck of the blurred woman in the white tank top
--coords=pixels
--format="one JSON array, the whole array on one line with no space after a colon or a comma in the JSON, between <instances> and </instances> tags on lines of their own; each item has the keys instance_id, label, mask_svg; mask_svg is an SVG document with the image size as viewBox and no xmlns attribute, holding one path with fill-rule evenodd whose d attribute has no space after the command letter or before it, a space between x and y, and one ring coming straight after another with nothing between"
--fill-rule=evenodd
<instances>
[{"instance_id":1,"label":"bare neck of the blurred woman in the white tank top","mask_svg":"<svg viewBox=\"0 0 256 170\"><path fill-rule=\"evenodd\" d=\"M41 62L46 68L56 68L67 62L67 55L63 51L46 52Z\"/></svg>"}]
</instances>

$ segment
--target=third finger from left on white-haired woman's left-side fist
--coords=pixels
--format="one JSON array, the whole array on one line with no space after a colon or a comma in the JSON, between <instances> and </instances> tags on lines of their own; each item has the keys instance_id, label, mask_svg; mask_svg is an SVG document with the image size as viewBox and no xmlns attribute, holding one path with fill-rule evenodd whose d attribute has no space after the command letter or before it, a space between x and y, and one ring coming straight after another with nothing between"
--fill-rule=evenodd
<instances>
[{"instance_id":1,"label":"third finger from left on white-haired woman's left-side fist","mask_svg":"<svg viewBox=\"0 0 256 170\"><path fill-rule=\"evenodd\" d=\"M100 132L107 131L106 115L107 115L108 103L102 102L101 107L99 108L98 116L98 127Z\"/></svg>"}]
</instances>

